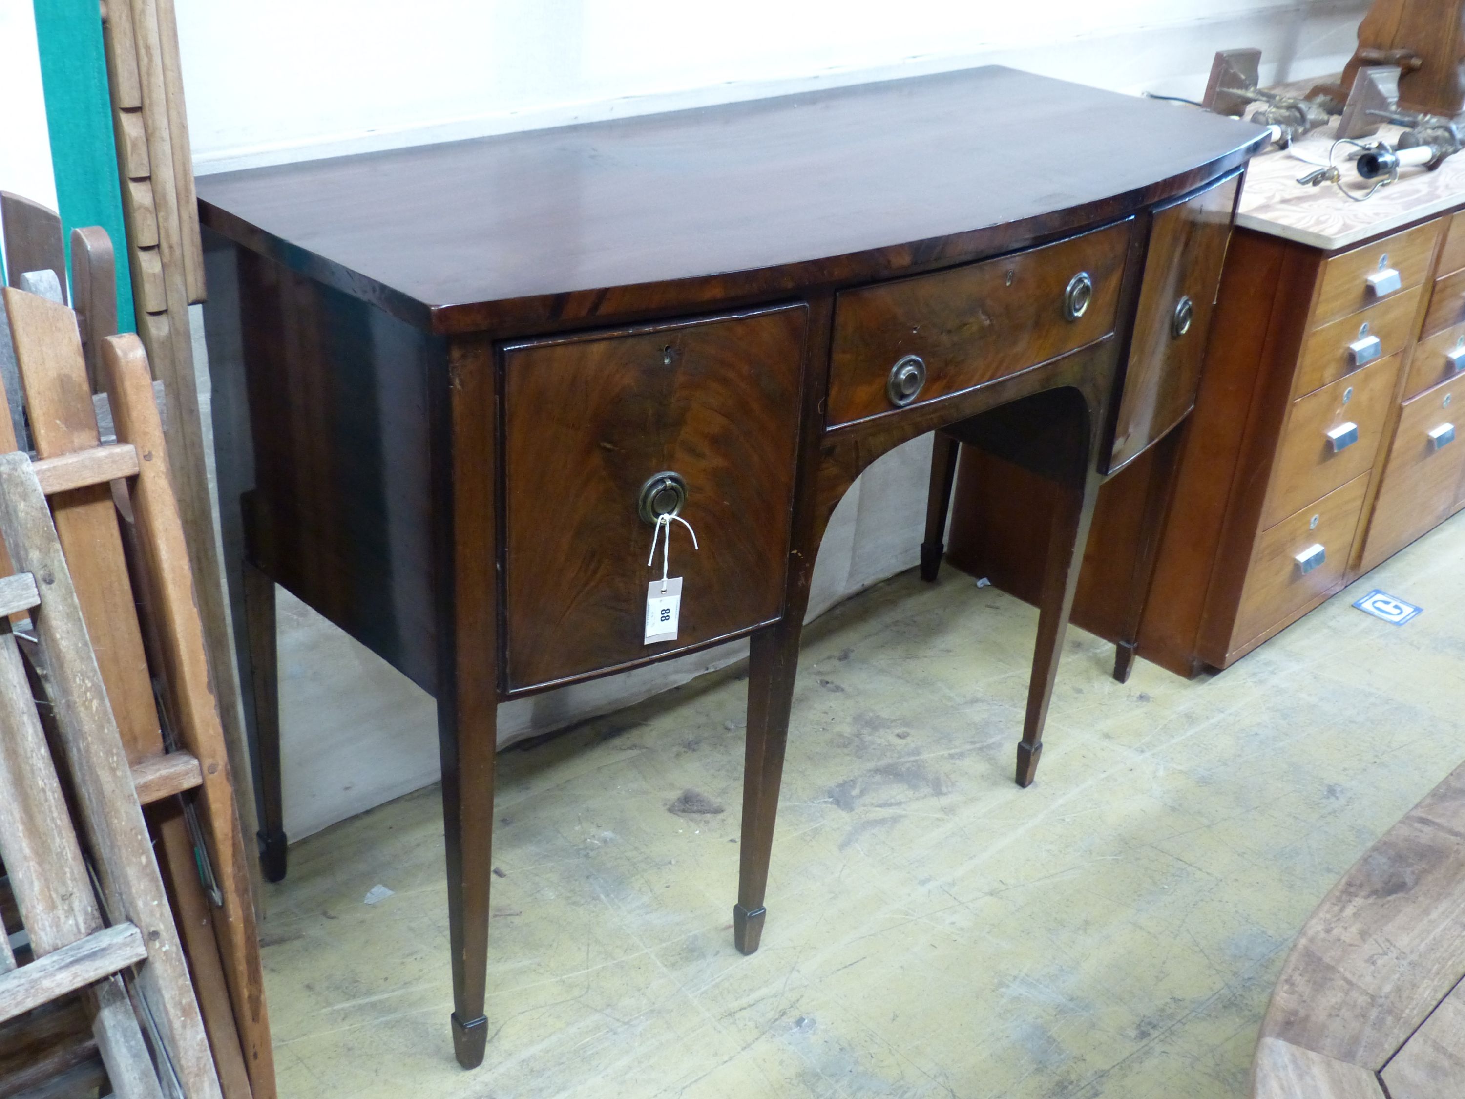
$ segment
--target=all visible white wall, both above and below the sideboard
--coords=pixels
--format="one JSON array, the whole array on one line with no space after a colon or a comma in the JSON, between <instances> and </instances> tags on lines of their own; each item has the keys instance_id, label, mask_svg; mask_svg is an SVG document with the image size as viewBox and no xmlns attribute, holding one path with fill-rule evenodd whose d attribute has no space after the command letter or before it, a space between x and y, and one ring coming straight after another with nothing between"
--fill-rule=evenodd
<instances>
[{"instance_id":1,"label":"all visible white wall, both above and below the sideboard","mask_svg":"<svg viewBox=\"0 0 1465 1099\"><path fill-rule=\"evenodd\" d=\"M0 188L54 202L31 3L0 0ZM1339 69L1367 3L176 0L199 173L982 63L1194 97L1217 48L1261 47L1267 81ZM974 125L998 142L1005 133L1001 119ZM916 564L927 454L929 440L917 440L886 456L841 503L812 611ZM627 705L741 651L505 705L501 743ZM431 700L289 598L280 665L292 837L437 778Z\"/></svg>"}]
</instances>

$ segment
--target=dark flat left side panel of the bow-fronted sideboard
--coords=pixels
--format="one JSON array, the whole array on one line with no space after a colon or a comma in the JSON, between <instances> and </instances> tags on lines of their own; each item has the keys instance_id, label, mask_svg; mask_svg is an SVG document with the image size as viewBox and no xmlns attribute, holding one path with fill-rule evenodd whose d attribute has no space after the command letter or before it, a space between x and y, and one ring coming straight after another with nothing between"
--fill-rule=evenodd
<instances>
[{"instance_id":1,"label":"dark flat left side panel of the bow-fronted sideboard","mask_svg":"<svg viewBox=\"0 0 1465 1099\"><path fill-rule=\"evenodd\" d=\"M249 551L431 692L428 384L444 375L447 341L243 249L237 286L255 472Z\"/></svg>"}]
</instances>

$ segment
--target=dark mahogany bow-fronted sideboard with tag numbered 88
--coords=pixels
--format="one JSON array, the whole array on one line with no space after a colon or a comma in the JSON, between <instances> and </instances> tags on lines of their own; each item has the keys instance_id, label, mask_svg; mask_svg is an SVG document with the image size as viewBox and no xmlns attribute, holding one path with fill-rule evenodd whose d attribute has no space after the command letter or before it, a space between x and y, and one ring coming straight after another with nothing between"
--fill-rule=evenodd
<instances>
[{"instance_id":1,"label":"dark mahogany bow-fronted sideboard with tag numbered 88","mask_svg":"<svg viewBox=\"0 0 1465 1099\"><path fill-rule=\"evenodd\" d=\"M437 699L453 1035L476 1065L497 703L749 636L752 952L819 541L870 462L935 429L1064 501L1031 781L1100 476L1193 403L1263 141L983 67L199 179L211 368L242 371L252 423L267 873L278 582ZM700 548L671 525L680 633L648 645L652 523L677 507Z\"/></svg>"}]
</instances>

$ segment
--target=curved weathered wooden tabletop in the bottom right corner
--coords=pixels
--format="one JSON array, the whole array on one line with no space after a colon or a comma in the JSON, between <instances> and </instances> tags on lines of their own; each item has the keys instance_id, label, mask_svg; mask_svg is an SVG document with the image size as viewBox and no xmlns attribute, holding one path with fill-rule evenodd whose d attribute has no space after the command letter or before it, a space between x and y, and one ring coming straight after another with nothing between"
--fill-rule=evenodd
<instances>
[{"instance_id":1,"label":"curved weathered wooden tabletop in the bottom right corner","mask_svg":"<svg viewBox=\"0 0 1465 1099\"><path fill-rule=\"evenodd\" d=\"M1462 829L1465 766L1411 809L1321 900L1282 966L1261 1021L1254 1095L1285 1093L1269 1081L1275 1074L1263 1057L1269 1042L1370 1074L1381 1071L1395 1099L1465 1092Z\"/></svg>"}]
</instances>

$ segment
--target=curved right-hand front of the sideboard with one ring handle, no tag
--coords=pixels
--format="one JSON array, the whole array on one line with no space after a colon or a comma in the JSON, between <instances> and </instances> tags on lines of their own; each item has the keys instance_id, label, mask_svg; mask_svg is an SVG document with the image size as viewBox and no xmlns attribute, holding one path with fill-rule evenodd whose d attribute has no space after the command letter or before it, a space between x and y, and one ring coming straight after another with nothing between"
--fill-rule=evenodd
<instances>
[{"instance_id":1,"label":"curved right-hand front of the sideboard with one ring handle, no tag","mask_svg":"<svg viewBox=\"0 0 1465 1099\"><path fill-rule=\"evenodd\" d=\"M1109 469L1173 428L1195 404L1206 334L1241 176L1154 214Z\"/></svg>"}]
</instances>

